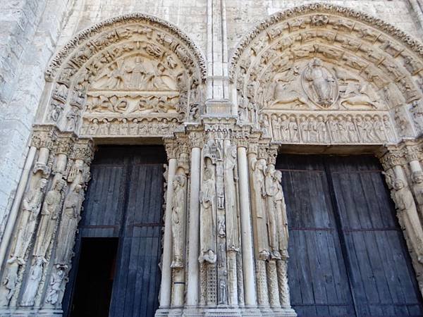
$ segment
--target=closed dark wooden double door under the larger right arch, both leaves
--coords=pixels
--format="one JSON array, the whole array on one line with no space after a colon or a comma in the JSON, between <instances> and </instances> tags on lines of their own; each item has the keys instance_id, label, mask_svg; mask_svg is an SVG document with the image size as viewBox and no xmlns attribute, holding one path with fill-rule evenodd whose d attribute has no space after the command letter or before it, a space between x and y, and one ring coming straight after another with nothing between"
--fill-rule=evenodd
<instances>
[{"instance_id":1,"label":"closed dark wooden double door under the larger right arch, both leaves","mask_svg":"<svg viewBox=\"0 0 423 317\"><path fill-rule=\"evenodd\" d=\"M278 157L299 316L423 316L415 272L372 156Z\"/></svg>"}]
</instances>

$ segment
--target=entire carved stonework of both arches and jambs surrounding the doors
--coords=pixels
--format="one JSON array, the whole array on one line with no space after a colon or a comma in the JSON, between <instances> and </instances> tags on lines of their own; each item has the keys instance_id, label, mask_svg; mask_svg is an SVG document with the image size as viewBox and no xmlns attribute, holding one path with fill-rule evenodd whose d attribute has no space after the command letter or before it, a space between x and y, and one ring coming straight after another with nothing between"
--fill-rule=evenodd
<instances>
[{"instance_id":1,"label":"entire carved stonework of both arches and jambs surrounding the doors","mask_svg":"<svg viewBox=\"0 0 423 317\"><path fill-rule=\"evenodd\" d=\"M72 250L66 263L56 263L55 239L66 206L79 217L98 144L166 147L157 316L295 316L287 257L263 238L267 233L257 216L259 204L274 206L277 199L264 188L267 198L259 201L255 194L263 187L259 172L253 172L262 168L270 182L283 151L377 155L423 290L422 226L410 225L420 222L423 211L423 105L417 85L422 52L419 42L364 13L329 4L300 6L266 18L238 44L227 78L232 98L222 101L206 100L213 77L207 77L205 58L170 23L135 13L80 32L46 72L39 124L20 183L26 190L16 198L0 247L0 313L61 316ZM342 64L331 64L336 54ZM154 67L142 70L141 61ZM321 85L312 68L331 84ZM279 73L283 76L276 77ZM357 80L367 87L357 90ZM287 86L292 94L281 99ZM333 93L345 86L349 94ZM403 189L393 189L393 180L401 180ZM66 187L56 187L58 182ZM47 195L51 203L44 206ZM174 197L181 197L180 205ZM31 223L25 213L44 214L49 207L59 218L51 222L51 237L39 242L46 251L33 256L38 221ZM176 214L183 223L175 221ZM200 235L200 228L209 227L208 237ZM32 235L21 237L27 228ZM237 234L228 237L231 230ZM16 251L17 240L27 247ZM26 290L33 296L23 304Z\"/></svg>"}]
</instances>

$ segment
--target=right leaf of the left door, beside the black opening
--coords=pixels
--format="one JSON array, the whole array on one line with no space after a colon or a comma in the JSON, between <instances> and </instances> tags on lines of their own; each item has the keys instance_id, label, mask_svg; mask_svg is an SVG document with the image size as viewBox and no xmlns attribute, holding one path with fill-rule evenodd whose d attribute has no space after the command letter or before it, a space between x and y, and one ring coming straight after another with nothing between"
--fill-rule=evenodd
<instances>
[{"instance_id":1,"label":"right leaf of the left door, beside the black opening","mask_svg":"<svg viewBox=\"0 0 423 317\"><path fill-rule=\"evenodd\" d=\"M111 316L150 317L158 308L163 204L163 164L131 161L119 275Z\"/></svg>"}]
</instances>

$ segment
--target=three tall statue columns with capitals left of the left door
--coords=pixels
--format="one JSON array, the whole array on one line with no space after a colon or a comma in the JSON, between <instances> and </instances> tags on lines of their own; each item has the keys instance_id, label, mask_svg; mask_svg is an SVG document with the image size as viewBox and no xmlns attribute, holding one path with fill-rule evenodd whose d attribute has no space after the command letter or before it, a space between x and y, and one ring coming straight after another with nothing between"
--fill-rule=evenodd
<instances>
[{"instance_id":1,"label":"three tall statue columns with capitals left of the left door","mask_svg":"<svg viewBox=\"0 0 423 317\"><path fill-rule=\"evenodd\" d=\"M90 177L90 140L39 125L34 128L32 146L38 155L20 203L2 276L3 307L45 307L61 302L83 189Z\"/></svg>"}]
</instances>

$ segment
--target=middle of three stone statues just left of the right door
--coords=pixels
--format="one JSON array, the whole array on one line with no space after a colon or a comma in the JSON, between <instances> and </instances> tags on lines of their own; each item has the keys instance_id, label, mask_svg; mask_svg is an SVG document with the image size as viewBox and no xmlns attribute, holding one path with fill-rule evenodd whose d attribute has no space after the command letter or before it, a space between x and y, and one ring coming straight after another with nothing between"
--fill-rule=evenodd
<instances>
[{"instance_id":1,"label":"middle of three stone statues just left of the right door","mask_svg":"<svg viewBox=\"0 0 423 317\"><path fill-rule=\"evenodd\" d=\"M278 194L278 180L276 179L276 170L273 164L266 168L265 188L266 188L266 223L267 233L269 235L270 256L271 259L281 259L278 247L278 234L276 231L276 194Z\"/></svg>"}]
</instances>

